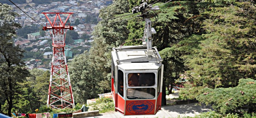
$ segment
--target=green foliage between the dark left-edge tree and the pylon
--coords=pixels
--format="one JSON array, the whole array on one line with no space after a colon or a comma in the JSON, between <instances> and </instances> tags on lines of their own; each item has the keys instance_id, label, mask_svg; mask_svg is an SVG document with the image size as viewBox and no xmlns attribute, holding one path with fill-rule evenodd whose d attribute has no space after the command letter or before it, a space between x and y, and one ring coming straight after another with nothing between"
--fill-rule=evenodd
<instances>
[{"instance_id":1,"label":"green foliage between the dark left-edge tree and the pylon","mask_svg":"<svg viewBox=\"0 0 256 118\"><path fill-rule=\"evenodd\" d=\"M31 75L26 81L19 83L22 89L20 89L21 94L18 95L19 99L15 101L17 104L14 109L21 113L34 113L35 109L42 106L40 109L44 111L50 72L39 69L32 69L29 72Z\"/></svg>"}]
</instances>

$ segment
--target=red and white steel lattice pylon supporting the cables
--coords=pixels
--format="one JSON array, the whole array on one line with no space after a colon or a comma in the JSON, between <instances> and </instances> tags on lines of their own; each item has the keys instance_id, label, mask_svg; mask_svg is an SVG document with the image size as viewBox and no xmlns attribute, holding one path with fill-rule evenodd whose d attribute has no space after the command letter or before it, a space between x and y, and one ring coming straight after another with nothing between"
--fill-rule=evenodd
<instances>
[{"instance_id":1,"label":"red and white steel lattice pylon supporting the cables","mask_svg":"<svg viewBox=\"0 0 256 118\"><path fill-rule=\"evenodd\" d=\"M65 37L64 29L73 30L70 23L66 23L69 16L73 13L42 13L49 21L42 29L52 30L52 68L48 91L47 106L56 109L74 108L74 97L70 84L68 66L65 57ZM53 22L48 18L47 14L55 14ZM67 19L63 22L60 14L68 14ZM56 22L57 16L59 22ZM51 31L50 31L51 32Z\"/></svg>"}]
</instances>

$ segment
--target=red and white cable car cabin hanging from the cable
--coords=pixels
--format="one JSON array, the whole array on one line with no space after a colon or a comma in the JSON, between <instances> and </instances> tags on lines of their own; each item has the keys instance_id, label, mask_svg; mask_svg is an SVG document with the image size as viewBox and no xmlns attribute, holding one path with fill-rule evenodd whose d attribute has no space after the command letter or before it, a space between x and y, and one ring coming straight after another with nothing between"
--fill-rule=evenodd
<instances>
[{"instance_id":1,"label":"red and white cable car cabin hanging from the cable","mask_svg":"<svg viewBox=\"0 0 256 118\"><path fill-rule=\"evenodd\" d=\"M153 50L153 51L152 51ZM112 51L112 95L123 115L155 115L161 110L163 65L156 48L123 46Z\"/></svg>"}]
</instances>

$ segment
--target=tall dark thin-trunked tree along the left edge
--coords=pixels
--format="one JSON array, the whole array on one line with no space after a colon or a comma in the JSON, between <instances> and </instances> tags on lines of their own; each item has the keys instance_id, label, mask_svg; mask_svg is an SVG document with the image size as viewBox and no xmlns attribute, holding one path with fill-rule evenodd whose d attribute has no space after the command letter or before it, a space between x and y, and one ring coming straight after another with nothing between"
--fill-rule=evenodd
<instances>
[{"instance_id":1,"label":"tall dark thin-trunked tree along the left edge","mask_svg":"<svg viewBox=\"0 0 256 118\"><path fill-rule=\"evenodd\" d=\"M0 89L8 104L8 115L11 116L13 105L16 104L14 101L20 93L21 86L18 83L25 80L28 71L21 60L24 50L14 46L12 41L12 37L16 36L15 29L21 27L14 22L17 14L10 11L13 8L7 4L0 4L0 9Z\"/></svg>"}]
</instances>

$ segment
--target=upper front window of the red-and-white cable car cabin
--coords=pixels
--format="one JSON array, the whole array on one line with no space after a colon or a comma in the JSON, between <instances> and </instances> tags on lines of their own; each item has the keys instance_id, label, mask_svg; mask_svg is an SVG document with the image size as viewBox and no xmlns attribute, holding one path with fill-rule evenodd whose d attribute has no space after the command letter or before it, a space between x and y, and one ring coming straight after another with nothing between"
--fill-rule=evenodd
<instances>
[{"instance_id":1,"label":"upper front window of the red-and-white cable car cabin","mask_svg":"<svg viewBox=\"0 0 256 118\"><path fill-rule=\"evenodd\" d=\"M155 86L155 73L129 73L129 87Z\"/></svg>"}]
</instances>

